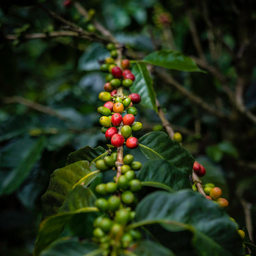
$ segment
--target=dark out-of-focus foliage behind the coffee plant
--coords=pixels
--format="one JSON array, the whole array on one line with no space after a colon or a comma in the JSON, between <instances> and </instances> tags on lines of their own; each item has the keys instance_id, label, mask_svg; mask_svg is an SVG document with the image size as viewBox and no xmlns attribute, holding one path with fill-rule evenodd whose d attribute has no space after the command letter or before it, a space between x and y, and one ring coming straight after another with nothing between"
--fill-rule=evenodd
<instances>
[{"instance_id":1,"label":"dark out-of-focus foliage behind the coffee plant","mask_svg":"<svg viewBox=\"0 0 256 256\"><path fill-rule=\"evenodd\" d=\"M64 8L62 0L38 2L83 28L88 24L74 6ZM95 10L96 19L113 32L118 42L143 55L157 49L197 55L189 28L189 7L206 59L218 66L229 78L230 87L235 88L235 63L222 44L211 45L212 35L206 29L197 2L80 2L88 10ZM242 33L236 12L244 12L244 16L248 14L244 24L248 24L248 29L255 28L256 11L252 3L208 2L209 16L231 49L238 47L238 35ZM40 197L47 189L50 174L66 164L70 152L86 145L106 148L107 144L100 131L100 116L96 108L102 105L98 93L102 91L105 81L104 74L99 72L98 61L109 53L102 44L79 38L25 40L22 38L24 34L47 33L59 30L62 25L51 20L35 5L30 0L22 3L10 0L0 4L0 227L3 232L0 253L9 256L31 254L41 218ZM7 34L20 37L6 40ZM206 102L218 105L226 113L230 112L222 84L210 72L171 73L185 88L200 95ZM245 104L255 111L255 62L248 76ZM225 120L219 120L194 105L155 73L152 77L166 117L174 125L174 130L182 133L182 146L207 170L203 181L213 182L222 188L224 197L230 200L227 212L240 227L245 225L242 198L251 208L255 229L255 125L241 116L236 125L230 126ZM14 96L21 96L22 100ZM40 104L36 105L39 111L34 105L33 108L26 106L23 99ZM160 119L153 110L138 108L136 119L144 124L144 129L136 134L139 138L152 131ZM136 160L146 161L139 150L134 155ZM110 180L112 177L100 176L99 179ZM90 214L72 219L62 236L86 236L86 232L91 232L88 227L85 228L87 219L93 220Z\"/></svg>"}]
</instances>

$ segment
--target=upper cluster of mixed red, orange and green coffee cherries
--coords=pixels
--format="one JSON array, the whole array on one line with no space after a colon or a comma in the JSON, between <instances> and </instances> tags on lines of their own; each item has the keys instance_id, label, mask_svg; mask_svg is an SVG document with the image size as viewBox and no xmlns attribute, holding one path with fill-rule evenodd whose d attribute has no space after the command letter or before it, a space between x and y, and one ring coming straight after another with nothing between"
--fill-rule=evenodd
<instances>
[{"instance_id":1,"label":"upper cluster of mixed red, orange and green coffee cherries","mask_svg":"<svg viewBox=\"0 0 256 256\"><path fill-rule=\"evenodd\" d=\"M141 101L139 94L132 93L128 96L118 95L118 87L124 86L130 88L135 80L135 76L129 70L130 61L128 59L122 60L122 69L116 66L114 58L116 48L114 44L107 45L111 56L106 58L105 63L102 64L100 70L108 72L106 76L106 84L104 84L104 92L100 92L99 99L105 104L100 106L97 111L103 116L100 118L102 132L105 134L107 140L111 144L119 148L126 143L129 149L137 148L139 145L138 139L132 136L132 132L138 132L142 129L142 123L135 122L137 109L133 104L138 104ZM122 116L123 113L126 114ZM121 128L120 133L118 129Z\"/></svg>"}]
</instances>

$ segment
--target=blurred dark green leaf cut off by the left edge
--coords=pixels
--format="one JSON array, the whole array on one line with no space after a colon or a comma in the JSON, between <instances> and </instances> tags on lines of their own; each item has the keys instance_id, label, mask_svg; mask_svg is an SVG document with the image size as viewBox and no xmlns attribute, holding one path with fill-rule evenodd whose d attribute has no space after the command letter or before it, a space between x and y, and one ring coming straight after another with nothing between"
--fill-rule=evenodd
<instances>
[{"instance_id":1,"label":"blurred dark green leaf cut off by the left edge","mask_svg":"<svg viewBox=\"0 0 256 256\"><path fill-rule=\"evenodd\" d=\"M14 192L28 177L46 146L46 138L22 138L0 155L0 195Z\"/></svg>"}]
</instances>

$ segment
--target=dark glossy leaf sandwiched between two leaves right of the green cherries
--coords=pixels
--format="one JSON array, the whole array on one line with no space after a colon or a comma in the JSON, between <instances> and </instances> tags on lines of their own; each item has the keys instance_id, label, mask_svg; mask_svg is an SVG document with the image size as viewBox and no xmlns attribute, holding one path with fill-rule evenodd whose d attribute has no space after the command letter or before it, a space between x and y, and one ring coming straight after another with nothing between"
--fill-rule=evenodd
<instances>
[{"instance_id":1,"label":"dark glossy leaf sandwiched between two leaves right of the green cherries","mask_svg":"<svg viewBox=\"0 0 256 256\"><path fill-rule=\"evenodd\" d=\"M158 182L174 190L191 188L188 174L172 166L166 160L151 160L146 162L138 174L138 179L143 184L145 182Z\"/></svg>"}]
</instances>

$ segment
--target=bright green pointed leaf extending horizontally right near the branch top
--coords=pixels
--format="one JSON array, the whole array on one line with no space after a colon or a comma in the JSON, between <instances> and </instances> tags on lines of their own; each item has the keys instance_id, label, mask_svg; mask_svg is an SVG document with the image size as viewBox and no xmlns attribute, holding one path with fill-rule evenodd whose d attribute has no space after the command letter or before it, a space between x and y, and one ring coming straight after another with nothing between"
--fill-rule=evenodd
<instances>
[{"instance_id":1,"label":"bright green pointed leaf extending horizontally right near the branch top","mask_svg":"<svg viewBox=\"0 0 256 256\"><path fill-rule=\"evenodd\" d=\"M180 71L206 73L205 71L198 68L194 60L187 56L184 56L181 52L172 50L152 52L151 54L146 56L142 60L142 62Z\"/></svg>"}]
</instances>

